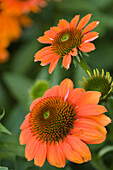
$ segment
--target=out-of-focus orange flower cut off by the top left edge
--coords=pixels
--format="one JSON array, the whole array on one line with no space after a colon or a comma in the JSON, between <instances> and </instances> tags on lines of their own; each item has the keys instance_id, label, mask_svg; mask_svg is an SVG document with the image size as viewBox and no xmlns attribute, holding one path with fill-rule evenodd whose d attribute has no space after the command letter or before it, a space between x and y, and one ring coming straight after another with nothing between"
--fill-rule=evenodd
<instances>
[{"instance_id":1,"label":"out-of-focus orange flower cut off by the top left edge","mask_svg":"<svg viewBox=\"0 0 113 170\"><path fill-rule=\"evenodd\" d=\"M46 6L47 0L2 0L2 8L6 9L8 14L22 15L32 12L38 12L39 7Z\"/></svg>"}]
</instances>

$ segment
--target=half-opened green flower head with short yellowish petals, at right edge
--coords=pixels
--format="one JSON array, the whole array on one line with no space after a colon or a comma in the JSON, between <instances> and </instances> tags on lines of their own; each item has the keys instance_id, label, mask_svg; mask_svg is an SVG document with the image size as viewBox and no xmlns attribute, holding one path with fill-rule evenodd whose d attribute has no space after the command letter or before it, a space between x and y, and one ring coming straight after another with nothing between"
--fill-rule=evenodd
<instances>
[{"instance_id":1,"label":"half-opened green flower head with short yellowish petals, at right edge","mask_svg":"<svg viewBox=\"0 0 113 170\"><path fill-rule=\"evenodd\" d=\"M108 97L112 93L112 90L113 90L113 82L112 82L112 77L110 76L110 73L106 72L106 75L105 75L103 69L102 69L102 74L99 72L98 69L94 69L93 75L89 72L88 72L88 75L89 75L88 79L83 77L85 81L84 83L80 82L83 88L86 91L89 91L89 90L99 91L102 94L100 99L101 100L106 99L106 97Z\"/></svg>"}]
</instances>

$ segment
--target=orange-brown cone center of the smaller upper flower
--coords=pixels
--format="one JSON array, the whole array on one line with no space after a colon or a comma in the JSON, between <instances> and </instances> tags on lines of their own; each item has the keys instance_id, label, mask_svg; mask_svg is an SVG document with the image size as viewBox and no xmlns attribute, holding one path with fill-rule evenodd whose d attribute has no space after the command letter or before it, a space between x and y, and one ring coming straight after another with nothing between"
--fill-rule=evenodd
<instances>
[{"instance_id":1,"label":"orange-brown cone center of the smaller upper flower","mask_svg":"<svg viewBox=\"0 0 113 170\"><path fill-rule=\"evenodd\" d=\"M81 44L82 37L82 31L77 28L62 30L55 36L52 50L58 55L64 56Z\"/></svg>"}]
</instances>

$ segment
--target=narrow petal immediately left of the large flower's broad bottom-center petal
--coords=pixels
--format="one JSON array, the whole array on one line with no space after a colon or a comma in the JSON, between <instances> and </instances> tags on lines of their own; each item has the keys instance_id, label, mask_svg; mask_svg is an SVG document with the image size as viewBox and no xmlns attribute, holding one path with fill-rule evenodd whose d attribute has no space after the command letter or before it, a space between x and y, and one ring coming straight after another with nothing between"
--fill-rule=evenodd
<instances>
[{"instance_id":1,"label":"narrow petal immediately left of the large flower's broad bottom-center petal","mask_svg":"<svg viewBox=\"0 0 113 170\"><path fill-rule=\"evenodd\" d=\"M47 155L47 146L46 143L41 143L40 147L38 148L35 158L34 158L34 164L37 166L42 167Z\"/></svg>"}]
</instances>

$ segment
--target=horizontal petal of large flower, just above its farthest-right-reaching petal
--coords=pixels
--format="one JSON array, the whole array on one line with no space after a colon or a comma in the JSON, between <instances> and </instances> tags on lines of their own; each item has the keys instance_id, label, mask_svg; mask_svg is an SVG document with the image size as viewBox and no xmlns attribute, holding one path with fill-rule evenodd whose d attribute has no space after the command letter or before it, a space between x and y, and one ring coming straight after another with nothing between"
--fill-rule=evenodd
<instances>
[{"instance_id":1,"label":"horizontal petal of large flower, just above its farthest-right-reaching petal","mask_svg":"<svg viewBox=\"0 0 113 170\"><path fill-rule=\"evenodd\" d=\"M76 108L78 116L94 116L107 112L107 109L102 105L89 104Z\"/></svg>"}]
</instances>

